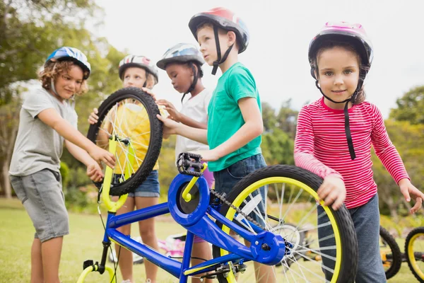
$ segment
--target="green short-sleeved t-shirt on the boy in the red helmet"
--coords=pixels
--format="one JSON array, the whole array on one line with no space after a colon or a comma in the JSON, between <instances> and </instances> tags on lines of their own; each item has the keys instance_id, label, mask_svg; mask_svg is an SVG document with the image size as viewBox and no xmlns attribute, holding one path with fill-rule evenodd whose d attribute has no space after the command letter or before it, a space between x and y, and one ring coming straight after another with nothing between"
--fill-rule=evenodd
<instances>
[{"instance_id":1,"label":"green short-sleeved t-shirt on the boy in the red helmet","mask_svg":"<svg viewBox=\"0 0 424 283\"><path fill-rule=\"evenodd\" d=\"M237 62L219 78L208 106L208 144L210 149L215 149L223 144L242 125L245 125L238 105L238 100L241 98L255 98L259 110L261 110L261 100L254 78L243 64ZM210 171L228 168L237 161L260 154L260 146L261 136L252 139L242 148L217 161L209 161L208 168Z\"/></svg>"}]
</instances>

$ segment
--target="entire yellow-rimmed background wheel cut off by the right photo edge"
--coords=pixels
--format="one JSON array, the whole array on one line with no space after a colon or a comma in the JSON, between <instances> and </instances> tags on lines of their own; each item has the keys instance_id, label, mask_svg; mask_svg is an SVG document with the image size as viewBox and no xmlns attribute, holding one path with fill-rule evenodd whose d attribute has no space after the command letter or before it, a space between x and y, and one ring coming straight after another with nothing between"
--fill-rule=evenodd
<instances>
[{"instance_id":1,"label":"entire yellow-rimmed background wheel cut off by the right photo edge","mask_svg":"<svg viewBox=\"0 0 424 283\"><path fill-rule=\"evenodd\" d=\"M406 236L406 261L413 276L424 282L424 227L413 229Z\"/></svg>"}]
</instances>

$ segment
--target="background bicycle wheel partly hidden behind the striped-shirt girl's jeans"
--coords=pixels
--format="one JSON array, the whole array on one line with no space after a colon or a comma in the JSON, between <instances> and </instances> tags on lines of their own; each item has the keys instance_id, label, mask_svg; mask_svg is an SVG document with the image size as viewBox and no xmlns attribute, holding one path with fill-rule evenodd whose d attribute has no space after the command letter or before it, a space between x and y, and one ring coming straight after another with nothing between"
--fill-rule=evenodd
<instances>
[{"instance_id":1,"label":"background bicycle wheel partly hidden behind the striped-shirt girl's jeans","mask_svg":"<svg viewBox=\"0 0 424 283\"><path fill-rule=\"evenodd\" d=\"M380 226L380 254L382 255L386 278L394 277L401 269L402 253L389 231Z\"/></svg>"}]
</instances>

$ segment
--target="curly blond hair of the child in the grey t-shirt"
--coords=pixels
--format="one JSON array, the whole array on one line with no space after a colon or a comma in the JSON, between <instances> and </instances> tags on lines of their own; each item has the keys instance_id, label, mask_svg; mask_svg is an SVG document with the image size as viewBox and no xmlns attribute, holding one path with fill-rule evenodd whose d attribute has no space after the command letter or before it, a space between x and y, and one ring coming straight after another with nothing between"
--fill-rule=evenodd
<instances>
[{"instance_id":1,"label":"curly blond hair of the child in the grey t-shirt","mask_svg":"<svg viewBox=\"0 0 424 283\"><path fill-rule=\"evenodd\" d=\"M38 74L38 79L40 79L42 87L45 88L47 91L50 90L52 88L52 80L55 81L62 74L68 73L68 71L71 70L71 67L73 66L78 66L78 64L75 64L72 61L47 62L47 64L45 64L44 69L42 69L42 71L40 71L40 74ZM83 72L84 76L86 76L86 71ZM87 91L87 82L86 80L83 80L81 88L76 91L76 95L81 96Z\"/></svg>"}]
</instances>

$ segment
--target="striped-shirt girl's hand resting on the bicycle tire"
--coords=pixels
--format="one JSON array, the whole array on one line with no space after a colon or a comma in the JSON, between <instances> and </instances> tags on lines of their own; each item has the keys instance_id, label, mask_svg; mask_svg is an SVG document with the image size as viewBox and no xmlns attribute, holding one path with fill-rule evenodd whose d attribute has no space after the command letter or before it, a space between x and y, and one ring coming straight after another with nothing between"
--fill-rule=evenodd
<instances>
[{"instance_id":1,"label":"striped-shirt girl's hand resting on the bicycle tire","mask_svg":"<svg viewBox=\"0 0 424 283\"><path fill-rule=\"evenodd\" d=\"M331 205L334 210L339 209L346 199L346 187L343 180L334 175L324 178L324 182L317 190L320 200L324 200L326 206Z\"/></svg>"}]
</instances>

